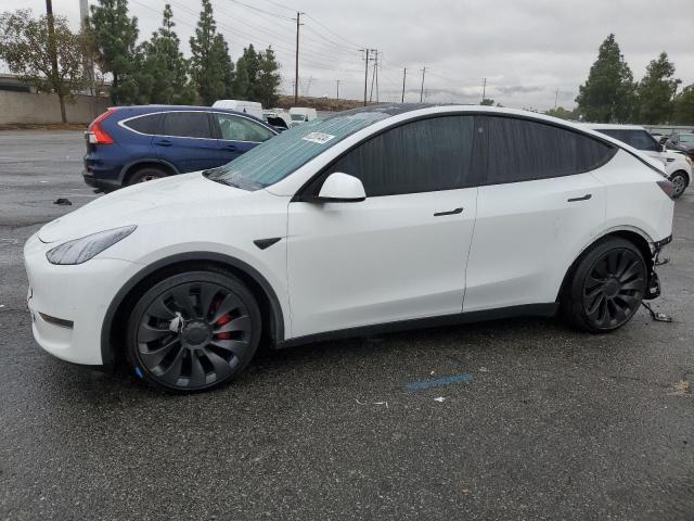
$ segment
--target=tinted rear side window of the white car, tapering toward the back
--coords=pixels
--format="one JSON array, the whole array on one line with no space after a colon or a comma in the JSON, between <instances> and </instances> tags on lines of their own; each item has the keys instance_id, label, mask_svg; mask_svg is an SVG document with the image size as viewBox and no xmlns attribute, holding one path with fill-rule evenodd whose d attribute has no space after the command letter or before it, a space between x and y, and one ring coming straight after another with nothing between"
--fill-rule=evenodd
<instances>
[{"instance_id":1,"label":"tinted rear side window of the white car, tapering toward the back","mask_svg":"<svg viewBox=\"0 0 694 521\"><path fill-rule=\"evenodd\" d=\"M616 149L596 139L527 119L484 116L487 183L570 176L605 164Z\"/></svg>"}]
</instances>

